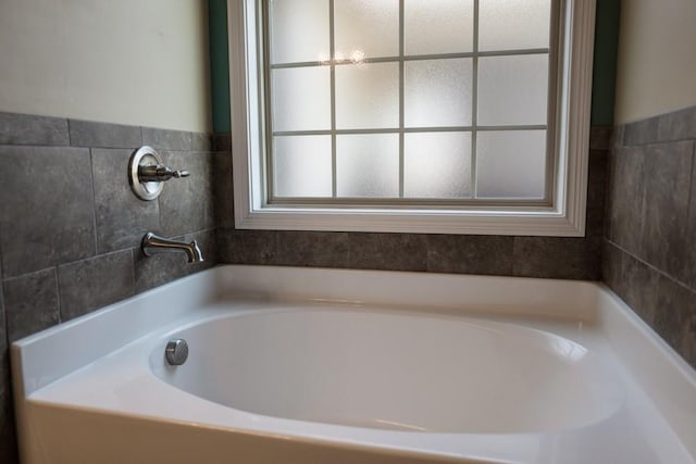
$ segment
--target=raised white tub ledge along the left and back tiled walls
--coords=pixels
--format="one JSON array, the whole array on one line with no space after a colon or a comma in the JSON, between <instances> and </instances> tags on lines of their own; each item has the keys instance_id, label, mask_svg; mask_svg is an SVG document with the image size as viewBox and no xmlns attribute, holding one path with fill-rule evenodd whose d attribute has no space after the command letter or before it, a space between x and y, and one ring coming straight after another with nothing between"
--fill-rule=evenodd
<instances>
[{"instance_id":1,"label":"raised white tub ledge along the left and back tiled walls","mask_svg":"<svg viewBox=\"0 0 696 464\"><path fill-rule=\"evenodd\" d=\"M272 276L273 283L270 283L271 279L264 279L265 276ZM307 294L307 291L295 290L296 288L304 288L307 281L315 281L320 278L330 279L331 285L327 289L312 290L310 296ZM388 286L377 285L381 279L385 278L389 283ZM346 279L352 280L351 290L346 288ZM410 293L405 296L402 289L399 288L405 279L409 283L426 279L430 286L437 286L438 289L449 288L461 283L464 283L465 286L456 287L455 291L435 293L437 299L433 301L425 300L420 292L411 291L414 288L413 285L406 286ZM510 297L506 298L504 303L485 304L485 300L489 299L490 294L495 294L496 298L500 296L495 291L486 293L485 289L500 285L509 286L518 291L525 290L526 294L538 304L536 310L530 311L527 308L521 308L519 299ZM370 290L366 298L351 297L355 294L357 286L361 288L363 294L364 289ZM539 287L545 291L538 291ZM470 298L472 290L477 296L476 302L462 306L461 300L455 300ZM572 293L573 299L570 304L568 304L568 296L563 291ZM32 366L36 372L35 375L30 373L26 375L25 373L25 375L16 377L23 379L33 377L35 379L30 385L25 383L20 385L18 392L28 396L80 366L146 336L159 328L162 325L162 319L182 316L197 306L220 299L319 301L376 308L401 306L405 309L419 309L430 304L436 311L451 311L457 314L483 315L484 317L486 314L525 315L595 323L597 321L595 309L597 296L597 283L586 280L223 264L182 277L15 340L11 343L10 350L13 365ZM409 300L405 302L405 298L409 298ZM158 301L158 308L149 305L151 299ZM481 304L482 300L484 300L484 304ZM473 304L478 308L471 308ZM561 310L555 311L558 308ZM124 318L128 319L126 324L120 322ZM97 339L92 336L96 333L104 333L109 336ZM74 353L70 350L70 343L55 341L58 334L63 334L76 343L89 349L83 350L82 353ZM51 355L47 356L46 353L51 353ZM27 356L30 360L25 361ZM54 362L57 360L60 360L62 364Z\"/></svg>"}]
</instances>

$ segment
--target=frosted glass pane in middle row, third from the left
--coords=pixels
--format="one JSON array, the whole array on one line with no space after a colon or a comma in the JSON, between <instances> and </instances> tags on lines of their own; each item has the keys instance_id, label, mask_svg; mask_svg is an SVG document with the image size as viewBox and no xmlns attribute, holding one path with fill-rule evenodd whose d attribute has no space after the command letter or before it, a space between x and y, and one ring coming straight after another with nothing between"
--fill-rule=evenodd
<instances>
[{"instance_id":1,"label":"frosted glass pane in middle row, third from the left","mask_svg":"<svg viewBox=\"0 0 696 464\"><path fill-rule=\"evenodd\" d=\"M471 59L405 63L407 127L471 125Z\"/></svg>"}]
</instances>

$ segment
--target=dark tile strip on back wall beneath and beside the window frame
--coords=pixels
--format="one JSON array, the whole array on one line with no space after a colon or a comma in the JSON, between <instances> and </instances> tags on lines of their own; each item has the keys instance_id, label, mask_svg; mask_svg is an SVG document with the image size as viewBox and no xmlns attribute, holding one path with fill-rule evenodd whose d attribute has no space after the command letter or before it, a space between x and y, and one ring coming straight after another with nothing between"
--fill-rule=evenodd
<instances>
[{"instance_id":1,"label":"dark tile strip on back wall beneath and beside the window frame","mask_svg":"<svg viewBox=\"0 0 696 464\"><path fill-rule=\"evenodd\" d=\"M611 128L591 135L587 234L584 238L237 230L229 154L214 163L217 242L224 263L423 271L600 279L607 159ZM221 149L229 139L215 137ZM216 174L217 175L217 174Z\"/></svg>"}]
</instances>

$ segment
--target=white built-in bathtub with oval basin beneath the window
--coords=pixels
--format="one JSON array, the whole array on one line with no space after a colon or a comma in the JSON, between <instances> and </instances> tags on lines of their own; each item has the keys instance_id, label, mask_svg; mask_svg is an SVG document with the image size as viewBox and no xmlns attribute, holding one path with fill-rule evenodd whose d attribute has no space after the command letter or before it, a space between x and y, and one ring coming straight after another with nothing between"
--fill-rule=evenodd
<instances>
[{"instance_id":1,"label":"white built-in bathtub with oval basin beneath the window","mask_svg":"<svg viewBox=\"0 0 696 464\"><path fill-rule=\"evenodd\" d=\"M219 266L12 366L25 463L696 462L696 373L594 283Z\"/></svg>"}]
</instances>

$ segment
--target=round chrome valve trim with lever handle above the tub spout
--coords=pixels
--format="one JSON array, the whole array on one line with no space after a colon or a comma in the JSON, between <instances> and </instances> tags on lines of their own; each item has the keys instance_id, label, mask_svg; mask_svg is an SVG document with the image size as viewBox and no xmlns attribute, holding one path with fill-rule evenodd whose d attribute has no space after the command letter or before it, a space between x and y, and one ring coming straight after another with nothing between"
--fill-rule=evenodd
<instances>
[{"instance_id":1,"label":"round chrome valve trim with lever handle above the tub spout","mask_svg":"<svg viewBox=\"0 0 696 464\"><path fill-rule=\"evenodd\" d=\"M154 200L172 177L188 177L188 171L174 171L163 164L162 158L152 147L140 147L128 163L128 180L134 193L141 200Z\"/></svg>"}]
</instances>

